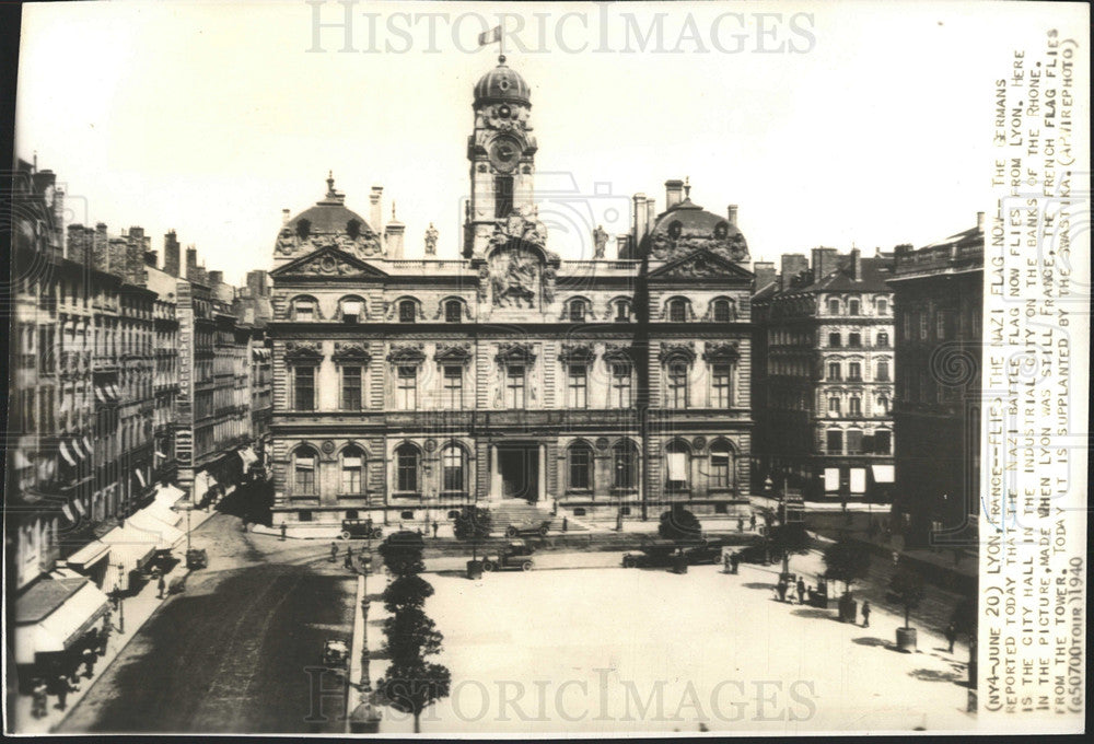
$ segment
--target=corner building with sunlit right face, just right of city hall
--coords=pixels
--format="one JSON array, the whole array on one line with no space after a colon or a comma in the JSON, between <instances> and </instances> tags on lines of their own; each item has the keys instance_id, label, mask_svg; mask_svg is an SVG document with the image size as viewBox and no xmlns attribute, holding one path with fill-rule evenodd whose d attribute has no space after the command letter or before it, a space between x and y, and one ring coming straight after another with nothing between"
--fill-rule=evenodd
<instances>
[{"instance_id":1,"label":"corner building with sunlit right face, just right of city hall","mask_svg":"<svg viewBox=\"0 0 1094 744\"><path fill-rule=\"evenodd\" d=\"M757 483L810 500L893 498L892 258L816 248L753 298Z\"/></svg>"}]
</instances>

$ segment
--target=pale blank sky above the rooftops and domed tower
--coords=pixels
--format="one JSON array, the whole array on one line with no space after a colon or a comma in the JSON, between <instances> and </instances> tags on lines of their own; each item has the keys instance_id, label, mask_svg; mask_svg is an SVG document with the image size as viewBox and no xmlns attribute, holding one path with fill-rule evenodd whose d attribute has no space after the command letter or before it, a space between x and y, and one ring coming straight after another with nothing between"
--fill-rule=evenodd
<instances>
[{"instance_id":1,"label":"pale blank sky above the rooftops and domed tower","mask_svg":"<svg viewBox=\"0 0 1094 744\"><path fill-rule=\"evenodd\" d=\"M432 222L456 258L472 89L498 54L477 35L499 22L532 88L540 218L563 258L590 256L596 224L626 231L631 195L660 211L685 177L710 211L738 205L754 260L924 245L990 209L993 81L1044 25L1041 3L980 2L23 12L16 154L58 174L68 221L140 225L161 256L175 230L233 283L271 266L281 210L321 199L328 171L366 219L384 187L407 257Z\"/></svg>"}]
</instances>

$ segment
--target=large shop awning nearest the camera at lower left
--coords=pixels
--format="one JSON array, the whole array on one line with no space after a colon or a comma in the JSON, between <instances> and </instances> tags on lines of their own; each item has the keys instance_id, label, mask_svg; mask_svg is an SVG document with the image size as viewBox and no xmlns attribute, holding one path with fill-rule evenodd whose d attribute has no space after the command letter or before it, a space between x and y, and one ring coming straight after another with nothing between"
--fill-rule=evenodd
<instances>
[{"instance_id":1,"label":"large shop awning nearest the camera at lower left","mask_svg":"<svg viewBox=\"0 0 1094 744\"><path fill-rule=\"evenodd\" d=\"M15 662L70 648L106 614L106 595L86 579L44 579L15 602Z\"/></svg>"}]
</instances>

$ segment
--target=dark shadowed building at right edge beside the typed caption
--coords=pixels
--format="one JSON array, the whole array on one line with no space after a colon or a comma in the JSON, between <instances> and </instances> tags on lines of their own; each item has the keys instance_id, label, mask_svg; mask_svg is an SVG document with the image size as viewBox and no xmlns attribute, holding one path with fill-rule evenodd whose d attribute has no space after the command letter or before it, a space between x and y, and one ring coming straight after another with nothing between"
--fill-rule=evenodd
<instances>
[{"instance_id":1,"label":"dark shadowed building at right edge beside the typed caption","mask_svg":"<svg viewBox=\"0 0 1094 744\"><path fill-rule=\"evenodd\" d=\"M975 543L982 282L984 212L968 230L896 252L895 505L910 544Z\"/></svg>"}]
</instances>

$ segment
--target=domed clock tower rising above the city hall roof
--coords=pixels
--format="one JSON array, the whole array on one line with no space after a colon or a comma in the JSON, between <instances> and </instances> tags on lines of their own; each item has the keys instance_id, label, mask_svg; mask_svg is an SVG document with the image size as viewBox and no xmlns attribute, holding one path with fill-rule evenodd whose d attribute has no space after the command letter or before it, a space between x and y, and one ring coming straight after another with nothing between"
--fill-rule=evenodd
<instances>
[{"instance_id":1,"label":"domed clock tower rising above the city hall roof","mask_svg":"<svg viewBox=\"0 0 1094 744\"><path fill-rule=\"evenodd\" d=\"M513 211L533 209L536 138L528 84L505 66L475 85L475 131L467 138L470 199L464 222L464 257L481 256L496 225Z\"/></svg>"}]
</instances>

